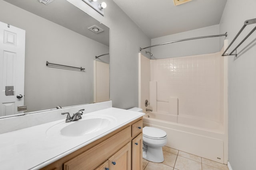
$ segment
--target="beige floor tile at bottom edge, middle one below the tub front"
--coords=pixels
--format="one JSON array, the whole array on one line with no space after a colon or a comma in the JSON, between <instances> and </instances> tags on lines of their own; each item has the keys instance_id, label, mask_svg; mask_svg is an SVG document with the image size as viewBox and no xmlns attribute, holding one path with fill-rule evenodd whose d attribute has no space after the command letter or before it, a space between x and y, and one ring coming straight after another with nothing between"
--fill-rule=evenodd
<instances>
[{"instance_id":1,"label":"beige floor tile at bottom edge, middle one below the tub front","mask_svg":"<svg viewBox=\"0 0 256 170\"><path fill-rule=\"evenodd\" d=\"M200 162L178 156L174 168L178 170L202 170L202 164Z\"/></svg>"}]
</instances>

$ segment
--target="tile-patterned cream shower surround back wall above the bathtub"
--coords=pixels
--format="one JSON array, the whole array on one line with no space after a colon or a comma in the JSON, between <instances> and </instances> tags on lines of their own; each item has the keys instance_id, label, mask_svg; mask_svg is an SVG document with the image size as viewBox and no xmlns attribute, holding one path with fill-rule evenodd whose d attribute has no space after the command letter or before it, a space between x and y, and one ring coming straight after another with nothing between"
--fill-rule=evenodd
<instances>
[{"instance_id":1,"label":"tile-patterned cream shower surround back wall above the bathtub","mask_svg":"<svg viewBox=\"0 0 256 170\"><path fill-rule=\"evenodd\" d=\"M174 122L182 115L223 124L223 60L219 53L151 60L152 109Z\"/></svg>"}]
</instances>

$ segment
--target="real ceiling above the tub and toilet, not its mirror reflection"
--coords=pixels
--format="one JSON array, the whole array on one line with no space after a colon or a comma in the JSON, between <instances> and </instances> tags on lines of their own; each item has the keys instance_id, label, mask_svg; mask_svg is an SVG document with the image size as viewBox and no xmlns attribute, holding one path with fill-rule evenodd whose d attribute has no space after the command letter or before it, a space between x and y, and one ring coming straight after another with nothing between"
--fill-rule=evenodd
<instances>
[{"instance_id":1,"label":"real ceiling above the tub and toilet, not its mirror reflection","mask_svg":"<svg viewBox=\"0 0 256 170\"><path fill-rule=\"evenodd\" d=\"M152 39L219 24L227 0L191 0L178 6L173 0L114 2Z\"/></svg>"}]
</instances>

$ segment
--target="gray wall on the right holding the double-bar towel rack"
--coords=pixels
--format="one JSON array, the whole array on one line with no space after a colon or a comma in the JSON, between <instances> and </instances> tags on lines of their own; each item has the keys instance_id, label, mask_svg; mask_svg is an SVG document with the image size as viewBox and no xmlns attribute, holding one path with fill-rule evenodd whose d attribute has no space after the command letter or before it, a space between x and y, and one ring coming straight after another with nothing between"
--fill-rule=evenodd
<instances>
[{"instance_id":1,"label":"gray wall on the right holding the double-bar towel rack","mask_svg":"<svg viewBox=\"0 0 256 170\"><path fill-rule=\"evenodd\" d=\"M255 0L228 0L220 21L220 32L232 41L245 20L256 18ZM256 24L244 30L247 34ZM244 33L235 45L244 38ZM256 153L256 46L241 50L255 39L254 33L241 48L238 59L228 57L228 160L233 170L255 169ZM221 45L221 44L220 44ZM234 46L235 46L234 45ZM234 47L231 47L234 49Z\"/></svg>"}]
</instances>

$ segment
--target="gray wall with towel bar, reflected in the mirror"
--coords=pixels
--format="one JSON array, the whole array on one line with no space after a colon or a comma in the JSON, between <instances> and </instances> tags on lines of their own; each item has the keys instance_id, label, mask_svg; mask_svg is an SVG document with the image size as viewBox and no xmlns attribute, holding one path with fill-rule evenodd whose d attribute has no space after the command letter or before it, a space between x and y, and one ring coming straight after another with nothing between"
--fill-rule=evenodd
<instances>
[{"instance_id":1,"label":"gray wall with towel bar, reflected in the mirror","mask_svg":"<svg viewBox=\"0 0 256 170\"><path fill-rule=\"evenodd\" d=\"M26 30L24 102L28 111L93 102L94 56L108 53L109 47L2 0L0 21ZM109 62L108 57L102 59ZM86 69L50 68L46 61Z\"/></svg>"}]
</instances>

